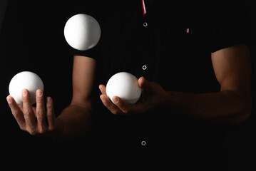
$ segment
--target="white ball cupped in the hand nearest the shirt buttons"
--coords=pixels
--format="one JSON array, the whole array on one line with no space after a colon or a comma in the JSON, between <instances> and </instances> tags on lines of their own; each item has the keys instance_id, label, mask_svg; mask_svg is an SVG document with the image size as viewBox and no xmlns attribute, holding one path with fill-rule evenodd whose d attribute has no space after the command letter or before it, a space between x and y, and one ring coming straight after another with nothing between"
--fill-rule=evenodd
<instances>
[{"instance_id":1,"label":"white ball cupped in the hand nearest the shirt buttons","mask_svg":"<svg viewBox=\"0 0 256 171\"><path fill-rule=\"evenodd\" d=\"M112 102L113 96L116 95L126 103L134 104L140 98L141 89L135 76L130 73L121 72L116 73L108 80L106 93Z\"/></svg>"}]
</instances>

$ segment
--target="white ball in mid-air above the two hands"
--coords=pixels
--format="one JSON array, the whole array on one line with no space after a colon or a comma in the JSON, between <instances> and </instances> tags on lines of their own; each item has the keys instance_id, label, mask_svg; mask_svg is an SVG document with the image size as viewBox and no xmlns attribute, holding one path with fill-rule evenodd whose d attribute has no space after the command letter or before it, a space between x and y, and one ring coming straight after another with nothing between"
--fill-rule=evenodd
<instances>
[{"instance_id":1,"label":"white ball in mid-air above the two hands","mask_svg":"<svg viewBox=\"0 0 256 171\"><path fill-rule=\"evenodd\" d=\"M64 36L72 48L86 51L100 40L101 27L92 16L76 14L66 22Z\"/></svg>"}]
</instances>

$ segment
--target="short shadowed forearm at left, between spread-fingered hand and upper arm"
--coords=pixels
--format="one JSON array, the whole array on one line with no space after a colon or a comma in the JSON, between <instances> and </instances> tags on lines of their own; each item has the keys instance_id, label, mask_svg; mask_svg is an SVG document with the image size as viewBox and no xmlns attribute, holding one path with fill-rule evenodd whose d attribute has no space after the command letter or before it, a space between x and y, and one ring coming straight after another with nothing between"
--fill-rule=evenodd
<instances>
[{"instance_id":1,"label":"short shadowed forearm at left, between spread-fingered hand and upper arm","mask_svg":"<svg viewBox=\"0 0 256 171\"><path fill-rule=\"evenodd\" d=\"M91 128L91 109L79 105L69 105L56 118L53 138L83 138Z\"/></svg>"}]
</instances>

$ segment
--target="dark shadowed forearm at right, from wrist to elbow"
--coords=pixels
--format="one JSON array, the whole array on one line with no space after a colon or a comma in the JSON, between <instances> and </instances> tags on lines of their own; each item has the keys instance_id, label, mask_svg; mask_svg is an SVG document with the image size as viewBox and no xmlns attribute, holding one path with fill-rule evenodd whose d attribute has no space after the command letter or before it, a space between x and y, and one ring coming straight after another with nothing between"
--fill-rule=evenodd
<instances>
[{"instance_id":1,"label":"dark shadowed forearm at right, from wrist to elbow","mask_svg":"<svg viewBox=\"0 0 256 171\"><path fill-rule=\"evenodd\" d=\"M166 97L166 105L171 110L217 123L242 123L251 110L250 97L229 90L202 94L168 92Z\"/></svg>"}]
</instances>

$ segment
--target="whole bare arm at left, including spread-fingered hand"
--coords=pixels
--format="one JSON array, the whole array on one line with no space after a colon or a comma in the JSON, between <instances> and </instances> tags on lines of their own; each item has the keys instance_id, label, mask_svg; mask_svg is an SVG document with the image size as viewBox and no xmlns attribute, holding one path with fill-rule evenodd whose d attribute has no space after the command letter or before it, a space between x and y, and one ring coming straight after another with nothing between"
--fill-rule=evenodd
<instances>
[{"instance_id":1,"label":"whole bare arm at left, including spread-fingered hand","mask_svg":"<svg viewBox=\"0 0 256 171\"><path fill-rule=\"evenodd\" d=\"M91 127L91 90L96 61L74 56L73 98L71 104L58 116L54 115L53 100L48 97L46 108L43 91L36 91L36 108L32 107L29 91L23 90L23 105L18 105L9 95L7 102L21 130L31 135L51 138L81 138Z\"/></svg>"}]
</instances>

